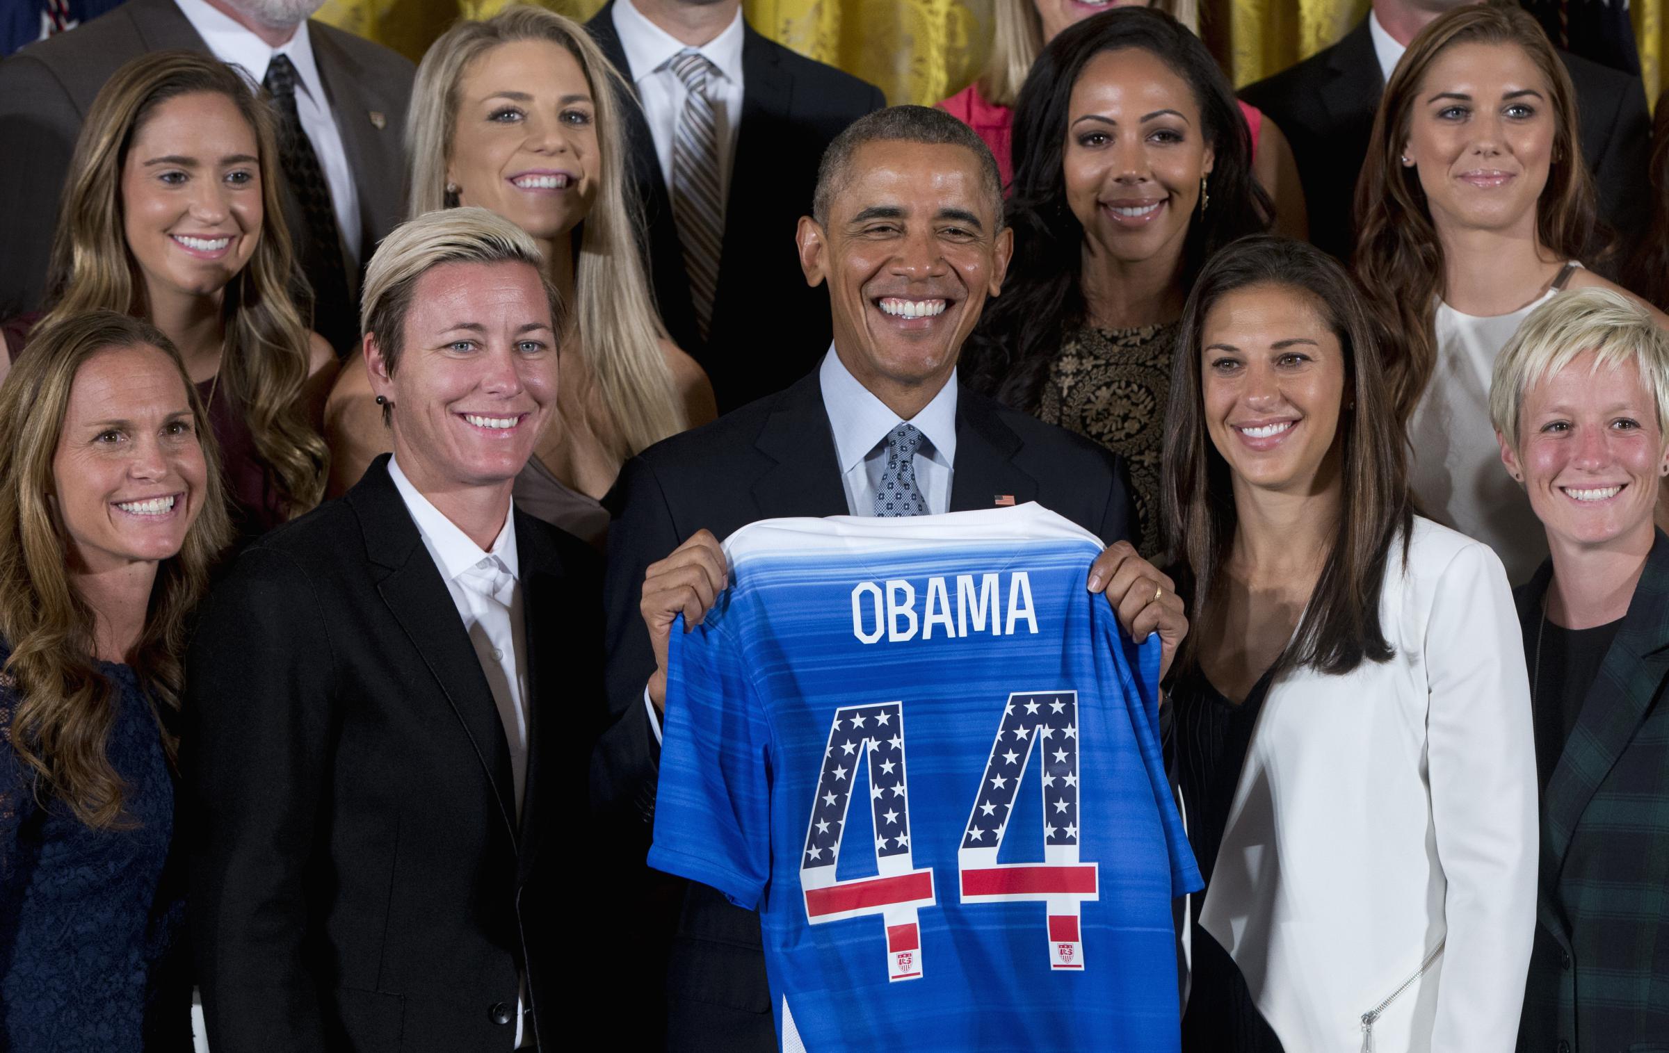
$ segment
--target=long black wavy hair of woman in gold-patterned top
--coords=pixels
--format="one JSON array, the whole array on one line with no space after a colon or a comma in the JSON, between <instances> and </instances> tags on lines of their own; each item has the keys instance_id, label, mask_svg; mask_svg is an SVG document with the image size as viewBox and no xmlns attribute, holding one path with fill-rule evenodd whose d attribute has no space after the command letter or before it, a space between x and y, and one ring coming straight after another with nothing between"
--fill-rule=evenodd
<instances>
[{"instance_id":1,"label":"long black wavy hair of woman in gold-patterned top","mask_svg":"<svg viewBox=\"0 0 1669 1053\"><path fill-rule=\"evenodd\" d=\"M1218 247L1268 230L1275 207L1252 175L1252 134L1217 60L1163 12L1125 7L1078 22L1038 57L1015 107L1015 180L1008 225L1015 255L1008 282L968 342L963 377L976 390L1035 407L1066 332L1083 325L1083 225L1066 202L1065 152L1071 90L1102 52L1140 48L1182 77L1200 107L1215 157L1210 207L1188 222L1183 289Z\"/></svg>"}]
</instances>

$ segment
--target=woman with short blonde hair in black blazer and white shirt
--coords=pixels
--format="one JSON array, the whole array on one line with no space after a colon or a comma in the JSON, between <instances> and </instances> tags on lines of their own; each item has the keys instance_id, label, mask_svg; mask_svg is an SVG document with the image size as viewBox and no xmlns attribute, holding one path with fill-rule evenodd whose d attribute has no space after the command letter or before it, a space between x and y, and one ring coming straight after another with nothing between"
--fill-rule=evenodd
<instances>
[{"instance_id":1,"label":"woman with short blonde hair in black blazer and white shirt","mask_svg":"<svg viewBox=\"0 0 1669 1053\"><path fill-rule=\"evenodd\" d=\"M185 764L215 1053L554 1048L557 946L589 943L562 834L586 843L564 808L603 709L601 581L511 506L554 407L539 265L481 209L382 242L364 367L392 459L245 549L202 614Z\"/></svg>"}]
</instances>

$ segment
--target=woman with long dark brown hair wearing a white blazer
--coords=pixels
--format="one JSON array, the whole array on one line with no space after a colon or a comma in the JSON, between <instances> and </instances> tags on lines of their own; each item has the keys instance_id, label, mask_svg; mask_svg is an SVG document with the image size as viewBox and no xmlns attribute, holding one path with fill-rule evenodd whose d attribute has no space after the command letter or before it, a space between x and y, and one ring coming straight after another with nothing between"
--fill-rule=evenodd
<instances>
[{"instance_id":1,"label":"woman with long dark brown hair wearing a white blazer","mask_svg":"<svg viewBox=\"0 0 1669 1053\"><path fill-rule=\"evenodd\" d=\"M1344 267L1270 237L1212 257L1165 424L1205 876L1182 1048L1509 1053L1537 848L1517 617L1485 546L1412 514Z\"/></svg>"}]
</instances>

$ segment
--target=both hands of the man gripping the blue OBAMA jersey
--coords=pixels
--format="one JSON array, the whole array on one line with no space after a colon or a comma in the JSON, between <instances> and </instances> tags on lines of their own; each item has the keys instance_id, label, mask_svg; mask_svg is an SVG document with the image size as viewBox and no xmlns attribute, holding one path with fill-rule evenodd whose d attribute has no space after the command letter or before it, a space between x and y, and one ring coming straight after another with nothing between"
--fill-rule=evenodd
<instances>
[{"instance_id":1,"label":"both hands of the man gripping the blue OBAMA jersey","mask_svg":"<svg viewBox=\"0 0 1669 1053\"><path fill-rule=\"evenodd\" d=\"M654 676L649 678L649 701L666 706L668 639L673 621L683 614L684 631L699 626L719 592L729 584L729 567L718 537L696 531L689 541L673 549L666 559L649 564L643 579L639 611L654 646ZM1090 566L1088 589L1103 592L1118 614L1118 624L1130 639L1143 641L1150 632L1160 639L1160 679L1170 671L1177 644L1188 634L1188 614L1177 586L1163 571L1142 559L1135 546L1120 541L1103 551Z\"/></svg>"}]
</instances>

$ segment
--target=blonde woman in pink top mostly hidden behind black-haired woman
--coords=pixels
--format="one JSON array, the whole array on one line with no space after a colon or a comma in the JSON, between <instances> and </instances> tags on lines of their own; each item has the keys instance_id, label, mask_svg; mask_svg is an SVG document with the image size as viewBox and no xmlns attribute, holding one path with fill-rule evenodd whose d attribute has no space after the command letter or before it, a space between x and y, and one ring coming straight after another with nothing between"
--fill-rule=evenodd
<instances>
[{"instance_id":1,"label":"blonde woman in pink top mostly hidden behind black-haired woman","mask_svg":"<svg viewBox=\"0 0 1669 1053\"><path fill-rule=\"evenodd\" d=\"M978 132L991 147L1005 187L1013 177L1010 147L1015 102L1038 55L1068 25L1098 10L1127 5L1162 10L1195 35L1200 32L1198 0L1113 0L1105 7L1078 0L996 0L991 10L991 50L985 70L978 80L938 105ZM1275 230L1288 237L1307 237L1303 187L1298 184L1298 162L1287 137L1253 105L1240 102L1240 115L1245 117L1247 130L1252 134L1252 172L1275 202Z\"/></svg>"}]
</instances>

